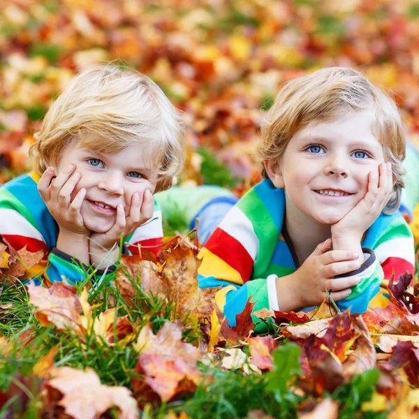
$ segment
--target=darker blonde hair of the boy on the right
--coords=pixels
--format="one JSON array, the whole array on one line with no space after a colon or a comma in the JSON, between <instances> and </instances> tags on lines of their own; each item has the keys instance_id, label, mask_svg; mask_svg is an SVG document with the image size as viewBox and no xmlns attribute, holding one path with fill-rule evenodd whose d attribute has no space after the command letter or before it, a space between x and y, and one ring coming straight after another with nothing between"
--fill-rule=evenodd
<instances>
[{"instance_id":1,"label":"darker blonde hair of the boy on the right","mask_svg":"<svg viewBox=\"0 0 419 419\"><path fill-rule=\"evenodd\" d=\"M269 122L262 127L258 160L281 161L293 135L310 122L331 121L346 112L360 112L371 106L375 114L374 135L383 145L385 161L392 163L395 185L383 210L383 214L392 214L399 208L404 187L402 161L406 141L402 119L392 98L352 68L322 68L286 83L270 109ZM268 177L265 169L263 177Z\"/></svg>"}]
</instances>

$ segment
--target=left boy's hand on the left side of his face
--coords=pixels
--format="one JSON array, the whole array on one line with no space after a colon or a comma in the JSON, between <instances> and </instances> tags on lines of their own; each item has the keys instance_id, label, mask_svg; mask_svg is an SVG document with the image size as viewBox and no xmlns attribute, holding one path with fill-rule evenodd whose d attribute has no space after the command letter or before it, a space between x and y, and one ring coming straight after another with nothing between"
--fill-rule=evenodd
<instances>
[{"instance_id":1,"label":"left boy's hand on the left side of his face","mask_svg":"<svg viewBox=\"0 0 419 419\"><path fill-rule=\"evenodd\" d=\"M48 210L57 221L60 232L69 232L82 236L89 236L90 230L84 226L80 207L86 189L78 191L71 202L71 193L80 180L80 173L74 172L75 165L71 164L63 170L55 179L54 168L47 168L38 182L38 191L47 205Z\"/></svg>"}]
</instances>

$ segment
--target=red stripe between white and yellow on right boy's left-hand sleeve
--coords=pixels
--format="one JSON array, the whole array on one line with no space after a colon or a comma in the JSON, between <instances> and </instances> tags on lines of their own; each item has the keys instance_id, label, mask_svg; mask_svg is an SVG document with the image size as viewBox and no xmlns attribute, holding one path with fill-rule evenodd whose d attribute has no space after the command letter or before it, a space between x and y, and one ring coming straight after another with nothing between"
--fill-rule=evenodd
<instances>
[{"instance_id":1,"label":"red stripe between white and yellow on right boy's left-hand sleeve","mask_svg":"<svg viewBox=\"0 0 419 419\"><path fill-rule=\"evenodd\" d=\"M205 248L239 272L243 282L249 281L253 259L243 245L233 236L217 227Z\"/></svg>"}]
</instances>

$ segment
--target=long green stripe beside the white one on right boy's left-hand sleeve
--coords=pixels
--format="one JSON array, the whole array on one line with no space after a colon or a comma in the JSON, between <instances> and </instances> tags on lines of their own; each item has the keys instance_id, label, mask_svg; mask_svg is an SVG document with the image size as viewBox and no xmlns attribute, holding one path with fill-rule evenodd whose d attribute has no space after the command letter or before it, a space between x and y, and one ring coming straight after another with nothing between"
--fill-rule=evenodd
<instances>
[{"instance_id":1,"label":"long green stripe beside the white one on right boy's left-hand sleeve","mask_svg":"<svg viewBox=\"0 0 419 419\"><path fill-rule=\"evenodd\" d=\"M237 207L244 212L252 223L254 232L259 240L258 256L253 265L251 279L262 278L277 246L279 231L255 189L251 189L237 203Z\"/></svg>"}]
</instances>

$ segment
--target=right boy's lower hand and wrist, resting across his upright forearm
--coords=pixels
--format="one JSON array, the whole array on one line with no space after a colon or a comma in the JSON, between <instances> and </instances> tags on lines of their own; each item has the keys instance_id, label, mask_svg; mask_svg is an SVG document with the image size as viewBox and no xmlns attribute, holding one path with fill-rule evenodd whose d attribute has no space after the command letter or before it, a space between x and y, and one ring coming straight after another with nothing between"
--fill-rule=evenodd
<instances>
[{"instance_id":1,"label":"right boy's lower hand and wrist, resting across his upright forearm","mask_svg":"<svg viewBox=\"0 0 419 419\"><path fill-rule=\"evenodd\" d=\"M318 244L301 267L288 277L277 278L278 305L281 311L319 305L330 296L340 301L351 295L351 286L359 277L334 278L360 267L358 255L351 251L332 250L332 240ZM286 281L284 281L286 279Z\"/></svg>"}]
</instances>

